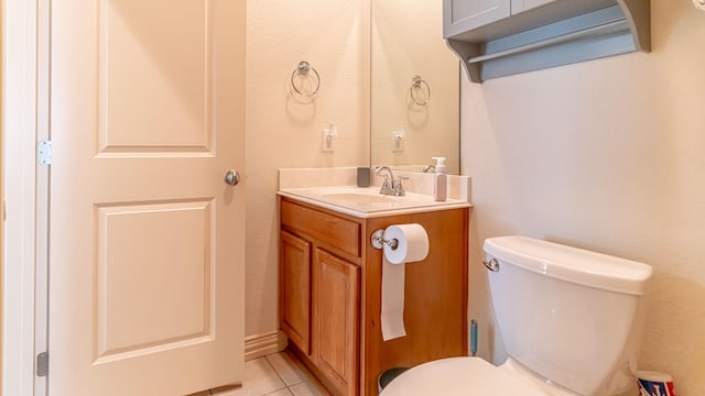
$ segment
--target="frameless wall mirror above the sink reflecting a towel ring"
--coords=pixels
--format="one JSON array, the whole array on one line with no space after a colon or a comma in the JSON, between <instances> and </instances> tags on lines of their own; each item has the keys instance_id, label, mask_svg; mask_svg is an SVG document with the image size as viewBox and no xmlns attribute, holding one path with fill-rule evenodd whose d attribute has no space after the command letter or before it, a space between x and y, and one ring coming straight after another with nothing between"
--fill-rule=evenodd
<instances>
[{"instance_id":1,"label":"frameless wall mirror above the sink reflecting a towel ring","mask_svg":"<svg viewBox=\"0 0 705 396\"><path fill-rule=\"evenodd\" d=\"M459 174L459 62L437 0L371 0L371 165ZM433 172L432 169L429 169Z\"/></svg>"}]
</instances>

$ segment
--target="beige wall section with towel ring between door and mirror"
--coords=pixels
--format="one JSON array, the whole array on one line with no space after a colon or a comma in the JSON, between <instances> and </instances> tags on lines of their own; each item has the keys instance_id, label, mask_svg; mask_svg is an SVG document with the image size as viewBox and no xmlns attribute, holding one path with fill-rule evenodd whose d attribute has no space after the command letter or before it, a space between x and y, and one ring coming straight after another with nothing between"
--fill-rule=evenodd
<instances>
[{"instance_id":1,"label":"beige wall section with towel ring between door and mirror","mask_svg":"<svg viewBox=\"0 0 705 396\"><path fill-rule=\"evenodd\" d=\"M369 0L249 1L246 334L279 328L276 169L369 164ZM308 61L314 101L291 94ZM337 125L333 153L322 131Z\"/></svg>"}]
</instances>

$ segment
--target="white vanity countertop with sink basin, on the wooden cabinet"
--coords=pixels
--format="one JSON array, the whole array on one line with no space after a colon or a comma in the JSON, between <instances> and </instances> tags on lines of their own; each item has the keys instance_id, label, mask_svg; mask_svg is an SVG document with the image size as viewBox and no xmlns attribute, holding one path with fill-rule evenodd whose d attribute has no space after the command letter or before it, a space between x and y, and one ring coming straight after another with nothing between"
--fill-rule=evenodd
<instances>
[{"instance_id":1,"label":"white vanity countertop with sink basin, on the wooden cabinet","mask_svg":"<svg viewBox=\"0 0 705 396\"><path fill-rule=\"evenodd\" d=\"M436 201L433 196L406 191L403 197L379 194L379 187L306 187L288 188L280 195L356 217L377 217L393 213L467 207L467 202L448 199Z\"/></svg>"}]
</instances>

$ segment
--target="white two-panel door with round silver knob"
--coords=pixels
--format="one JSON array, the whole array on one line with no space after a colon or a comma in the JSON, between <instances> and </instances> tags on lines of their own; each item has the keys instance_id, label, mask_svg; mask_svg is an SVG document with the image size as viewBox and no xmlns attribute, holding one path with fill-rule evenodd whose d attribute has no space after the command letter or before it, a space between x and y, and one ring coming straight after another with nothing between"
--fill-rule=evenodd
<instances>
[{"instance_id":1,"label":"white two-panel door with round silver knob","mask_svg":"<svg viewBox=\"0 0 705 396\"><path fill-rule=\"evenodd\" d=\"M51 396L243 374L240 0L53 0Z\"/></svg>"}]
</instances>

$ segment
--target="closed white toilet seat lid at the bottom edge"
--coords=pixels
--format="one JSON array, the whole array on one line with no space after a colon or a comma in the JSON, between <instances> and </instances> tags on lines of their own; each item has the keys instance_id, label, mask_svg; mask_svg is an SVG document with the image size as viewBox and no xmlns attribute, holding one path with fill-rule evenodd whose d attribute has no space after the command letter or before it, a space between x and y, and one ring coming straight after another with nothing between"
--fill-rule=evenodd
<instances>
[{"instance_id":1,"label":"closed white toilet seat lid at the bottom edge","mask_svg":"<svg viewBox=\"0 0 705 396\"><path fill-rule=\"evenodd\" d=\"M392 381L380 396L546 396L479 358L448 358L415 366Z\"/></svg>"}]
</instances>

